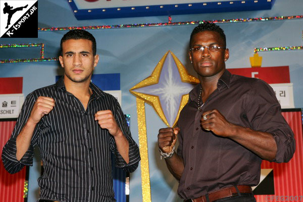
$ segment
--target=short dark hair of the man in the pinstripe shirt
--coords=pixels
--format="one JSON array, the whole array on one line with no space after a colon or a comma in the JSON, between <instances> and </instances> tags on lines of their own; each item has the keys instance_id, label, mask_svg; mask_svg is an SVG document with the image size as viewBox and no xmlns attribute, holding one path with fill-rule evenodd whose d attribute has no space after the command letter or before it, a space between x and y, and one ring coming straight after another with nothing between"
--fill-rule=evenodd
<instances>
[{"instance_id":1,"label":"short dark hair of the man in the pinstripe shirt","mask_svg":"<svg viewBox=\"0 0 303 202\"><path fill-rule=\"evenodd\" d=\"M95 56L96 55L96 39L93 37L93 35L91 33L89 33L88 31L85 31L83 29L73 29L73 30L70 30L68 31L66 34L64 34L64 36L62 37L61 39L61 42L60 42L60 47L61 47L61 56L62 56L62 43L66 40L69 40L69 39L87 39L87 40L90 40L92 42L92 52L93 52L93 55Z\"/></svg>"}]
</instances>

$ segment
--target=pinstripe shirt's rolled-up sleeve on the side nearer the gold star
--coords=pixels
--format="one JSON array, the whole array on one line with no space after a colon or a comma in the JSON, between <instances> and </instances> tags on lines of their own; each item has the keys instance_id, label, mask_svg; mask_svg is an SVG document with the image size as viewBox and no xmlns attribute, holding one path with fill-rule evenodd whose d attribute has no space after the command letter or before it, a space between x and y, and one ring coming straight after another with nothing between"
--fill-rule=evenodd
<instances>
[{"instance_id":1,"label":"pinstripe shirt's rolled-up sleeve on the side nearer the gold star","mask_svg":"<svg viewBox=\"0 0 303 202\"><path fill-rule=\"evenodd\" d=\"M111 138L112 139L111 149L112 149L113 153L115 154L115 165L116 165L116 167L122 168L125 171L134 172L139 165L139 161L141 160L140 153L139 153L139 147L136 144L136 142L132 139L126 119L124 117L124 114L123 114L118 102L116 102L114 116L115 116L118 126L122 130L122 133L124 134L124 136L126 137L126 139L128 140L128 143L129 143L129 151L128 151L129 163L127 164L124 161L123 157L120 155L120 153L116 147L114 138Z\"/></svg>"}]
</instances>

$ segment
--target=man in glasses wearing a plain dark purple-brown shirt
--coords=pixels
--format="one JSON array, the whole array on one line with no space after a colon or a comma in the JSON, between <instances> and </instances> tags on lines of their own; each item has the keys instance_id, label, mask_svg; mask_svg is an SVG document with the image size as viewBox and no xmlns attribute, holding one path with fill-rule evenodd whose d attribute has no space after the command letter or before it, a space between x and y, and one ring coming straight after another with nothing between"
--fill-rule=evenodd
<instances>
[{"instance_id":1,"label":"man in glasses wearing a plain dark purple-brown shirt","mask_svg":"<svg viewBox=\"0 0 303 202\"><path fill-rule=\"evenodd\" d=\"M288 162L295 150L273 89L229 73L228 58L219 26L193 29L189 59L200 83L189 92L178 127L158 134L160 153L184 201L256 201L251 186L260 181L262 160Z\"/></svg>"}]
</instances>

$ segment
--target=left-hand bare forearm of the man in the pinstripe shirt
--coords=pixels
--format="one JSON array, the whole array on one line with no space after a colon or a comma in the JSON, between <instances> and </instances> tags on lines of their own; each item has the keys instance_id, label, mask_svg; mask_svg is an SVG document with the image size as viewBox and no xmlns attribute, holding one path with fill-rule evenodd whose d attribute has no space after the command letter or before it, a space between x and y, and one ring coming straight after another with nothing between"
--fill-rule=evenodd
<instances>
[{"instance_id":1,"label":"left-hand bare forearm of the man in the pinstripe shirt","mask_svg":"<svg viewBox=\"0 0 303 202\"><path fill-rule=\"evenodd\" d=\"M18 161L22 159L29 148L36 124L28 120L16 138L16 158Z\"/></svg>"}]
</instances>

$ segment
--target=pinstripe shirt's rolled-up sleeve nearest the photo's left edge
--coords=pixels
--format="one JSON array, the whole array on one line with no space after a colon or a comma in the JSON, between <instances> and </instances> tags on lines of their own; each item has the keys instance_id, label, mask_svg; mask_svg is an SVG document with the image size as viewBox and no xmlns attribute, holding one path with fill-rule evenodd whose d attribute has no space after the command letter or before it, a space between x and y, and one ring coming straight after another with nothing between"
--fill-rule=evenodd
<instances>
[{"instance_id":1,"label":"pinstripe shirt's rolled-up sleeve nearest the photo's left edge","mask_svg":"<svg viewBox=\"0 0 303 202\"><path fill-rule=\"evenodd\" d=\"M37 127L35 128L30 146L20 161L18 161L16 157L16 153L17 153L16 139L18 134L23 129L30 115L34 103L35 103L35 99L31 94L29 94L26 97L25 102L22 106L12 136L3 147L2 161L5 169L11 174L19 172L24 166L32 166L33 164L33 155L34 155L33 147L36 145L37 142L37 136L39 133L40 124L38 124Z\"/></svg>"}]
</instances>

